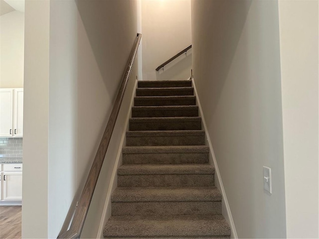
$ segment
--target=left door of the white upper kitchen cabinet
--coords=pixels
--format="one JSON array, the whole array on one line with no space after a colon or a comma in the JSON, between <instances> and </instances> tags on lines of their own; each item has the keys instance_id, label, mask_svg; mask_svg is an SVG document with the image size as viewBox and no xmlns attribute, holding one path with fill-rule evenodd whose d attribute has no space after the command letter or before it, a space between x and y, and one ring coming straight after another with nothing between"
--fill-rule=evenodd
<instances>
[{"instance_id":1,"label":"left door of the white upper kitchen cabinet","mask_svg":"<svg viewBox=\"0 0 319 239\"><path fill-rule=\"evenodd\" d=\"M0 89L0 137L13 136L13 89Z\"/></svg>"}]
</instances>

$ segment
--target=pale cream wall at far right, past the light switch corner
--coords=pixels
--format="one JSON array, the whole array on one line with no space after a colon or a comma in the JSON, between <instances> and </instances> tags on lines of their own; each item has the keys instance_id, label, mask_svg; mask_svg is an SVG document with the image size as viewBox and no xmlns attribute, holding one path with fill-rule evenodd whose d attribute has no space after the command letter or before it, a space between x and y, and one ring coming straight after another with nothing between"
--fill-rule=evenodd
<instances>
[{"instance_id":1,"label":"pale cream wall at far right, past the light switch corner","mask_svg":"<svg viewBox=\"0 0 319 239\"><path fill-rule=\"evenodd\" d=\"M318 238L318 1L279 1L287 238Z\"/></svg>"}]
</instances>

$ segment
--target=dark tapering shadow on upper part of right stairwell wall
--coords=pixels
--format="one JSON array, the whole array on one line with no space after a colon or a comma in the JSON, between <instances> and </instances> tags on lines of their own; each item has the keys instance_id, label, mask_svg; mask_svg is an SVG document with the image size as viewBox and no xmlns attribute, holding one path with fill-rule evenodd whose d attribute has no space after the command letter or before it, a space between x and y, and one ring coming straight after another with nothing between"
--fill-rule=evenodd
<instances>
[{"instance_id":1,"label":"dark tapering shadow on upper part of right stairwell wall","mask_svg":"<svg viewBox=\"0 0 319 239\"><path fill-rule=\"evenodd\" d=\"M206 49L202 49L202 47L204 47L203 45L195 45L193 47L196 47L196 52L209 52L213 57L210 57L210 61L202 61L202 55L195 55L194 59L196 59L195 61L200 60L201 62L196 71L208 73L208 75L204 75L204 77L211 79L205 81L205 87L200 90L207 91L206 93L202 92L201 94L212 96L212 105L210 105L211 110L206 112L206 114L213 114L220 93L222 92L221 89L224 86L230 66L233 62L233 57L236 53L252 0L208 0L208 2L203 0L199 2L201 11L204 12L203 15L209 17L198 17L199 21L203 21L198 23L198 25L207 25L211 28L206 29L205 36L194 35L193 37L196 37L199 40L201 37L204 37L211 39L211 42L205 44L205 47L207 47ZM206 7L207 4L212 5L212 7ZM207 19L209 21L208 23L206 22ZM197 40L197 42L200 42L199 40ZM207 69L210 70L208 71ZM201 79L196 78L196 72L194 72L194 77L195 81L198 81L199 83ZM205 117L211 119L211 116L206 115Z\"/></svg>"}]
</instances>

